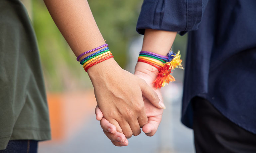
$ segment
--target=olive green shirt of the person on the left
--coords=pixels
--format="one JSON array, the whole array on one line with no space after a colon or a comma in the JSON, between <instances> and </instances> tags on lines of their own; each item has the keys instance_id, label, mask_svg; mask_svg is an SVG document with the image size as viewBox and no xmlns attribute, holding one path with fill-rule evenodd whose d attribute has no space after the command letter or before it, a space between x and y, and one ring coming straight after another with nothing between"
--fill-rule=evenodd
<instances>
[{"instance_id":1,"label":"olive green shirt of the person on the left","mask_svg":"<svg viewBox=\"0 0 256 153\"><path fill-rule=\"evenodd\" d=\"M35 33L19 0L0 0L0 150L9 140L51 139Z\"/></svg>"}]
</instances>

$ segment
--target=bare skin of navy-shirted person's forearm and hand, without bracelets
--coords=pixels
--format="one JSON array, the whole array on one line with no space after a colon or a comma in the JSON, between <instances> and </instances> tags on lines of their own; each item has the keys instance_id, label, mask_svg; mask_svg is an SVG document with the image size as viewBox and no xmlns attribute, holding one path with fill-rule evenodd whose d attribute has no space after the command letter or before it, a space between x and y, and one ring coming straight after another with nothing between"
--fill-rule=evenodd
<instances>
[{"instance_id":1,"label":"bare skin of navy-shirted person's forearm and hand, without bracelets","mask_svg":"<svg viewBox=\"0 0 256 153\"><path fill-rule=\"evenodd\" d=\"M149 51L166 56L173 45L176 35L177 32L146 29L142 51ZM156 89L152 84L157 77L157 72L158 70L154 66L143 62L138 62L135 66L134 74L145 80L146 83L157 93L160 101L163 101L161 90ZM148 136L153 136L161 122L163 109L159 109L152 105L152 103L150 103L146 97L144 97L143 100L148 117L148 123L143 126L142 131ZM101 110L97 106L95 109L95 114L96 119L100 121L104 134L106 134L106 136L115 146L128 145L129 142L127 139L125 139L125 136L116 131L116 127L103 117Z\"/></svg>"}]
</instances>

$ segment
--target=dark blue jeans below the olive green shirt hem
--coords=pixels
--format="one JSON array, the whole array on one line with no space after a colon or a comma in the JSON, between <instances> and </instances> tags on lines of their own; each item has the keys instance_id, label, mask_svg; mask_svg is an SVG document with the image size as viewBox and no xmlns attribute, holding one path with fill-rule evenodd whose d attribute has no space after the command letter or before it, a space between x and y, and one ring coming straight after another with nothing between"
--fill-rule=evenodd
<instances>
[{"instance_id":1,"label":"dark blue jeans below the olive green shirt hem","mask_svg":"<svg viewBox=\"0 0 256 153\"><path fill-rule=\"evenodd\" d=\"M37 153L37 146L38 141L35 140L10 140L0 153Z\"/></svg>"}]
</instances>

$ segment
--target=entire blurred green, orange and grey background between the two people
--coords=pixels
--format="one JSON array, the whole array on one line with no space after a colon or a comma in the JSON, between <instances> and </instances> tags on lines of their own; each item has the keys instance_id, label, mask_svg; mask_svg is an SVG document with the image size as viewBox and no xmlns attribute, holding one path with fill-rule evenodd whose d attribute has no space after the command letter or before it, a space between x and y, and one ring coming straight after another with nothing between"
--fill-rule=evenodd
<instances>
[{"instance_id":1,"label":"entire blurred green, orange and grey background between the two people","mask_svg":"<svg viewBox=\"0 0 256 153\"><path fill-rule=\"evenodd\" d=\"M194 152L192 130L181 124L184 70L162 88L167 109L157 133L132 137L116 147L104 135L94 109L96 100L88 75L56 27L43 0L22 0L35 28L50 110L52 140L39 143L39 153L69 152ZM134 72L143 36L135 28L142 0L88 0L96 23L118 64ZM187 35L177 36L172 50L181 51L185 65ZM61 66L60 66L61 65Z\"/></svg>"}]
</instances>

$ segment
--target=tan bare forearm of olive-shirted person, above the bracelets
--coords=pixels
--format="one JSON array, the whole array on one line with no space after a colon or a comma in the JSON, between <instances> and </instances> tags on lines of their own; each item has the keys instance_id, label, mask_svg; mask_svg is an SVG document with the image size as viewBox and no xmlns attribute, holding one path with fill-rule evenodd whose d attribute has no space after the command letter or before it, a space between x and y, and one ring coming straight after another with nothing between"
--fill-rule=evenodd
<instances>
[{"instance_id":1,"label":"tan bare forearm of olive-shirted person, above the bracelets","mask_svg":"<svg viewBox=\"0 0 256 153\"><path fill-rule=\"evenodd\" d=\"M105 43L86 0L44 0L44 2L76 57Z\"/></svg>"}]
</instances>

